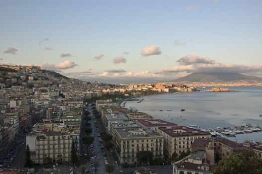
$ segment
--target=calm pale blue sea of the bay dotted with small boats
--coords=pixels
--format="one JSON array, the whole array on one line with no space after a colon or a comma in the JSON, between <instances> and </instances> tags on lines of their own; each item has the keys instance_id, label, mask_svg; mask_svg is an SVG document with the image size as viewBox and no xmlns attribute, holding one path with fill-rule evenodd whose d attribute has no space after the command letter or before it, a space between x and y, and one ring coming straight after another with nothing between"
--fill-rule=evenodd
<instances>
[{"instance_id":1,"label":"calm pale blue sea of the bay dotted with small boats","mask_svg":"<svg viewBox=\"0 0 262 174\"><path fill-rule=\"evenodd\" d=\"M140 103L127 101L125 107L152 115L177 125L198 125L201 129L235 127L245 123L262 127L262 87L228 87L229 92L184 92L142 96ZM210 87L198 88L208 90ZM181 111L185 109L185 111ZM160 111L163 110L163 111ZM171 111L168 111L171 110ZM262 132L226 137L243 143L245 140L262 142Z\"/></svg>"}]
</instances>

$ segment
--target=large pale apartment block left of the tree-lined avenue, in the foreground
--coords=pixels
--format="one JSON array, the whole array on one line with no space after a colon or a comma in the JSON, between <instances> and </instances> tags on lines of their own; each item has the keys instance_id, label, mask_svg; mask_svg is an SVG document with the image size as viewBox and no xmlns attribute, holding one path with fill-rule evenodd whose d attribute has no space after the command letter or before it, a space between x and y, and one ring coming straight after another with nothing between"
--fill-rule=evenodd
<instances>
[{"instance_id":1,"label":"large pale apartment block left of the tree-lined avenue, in the foreground","mask_svg":"<svg viewBox=\"0 0 262 174\"><path fill-rule=\"evenodd\" d=\"M31 159L34 163L42 164L45 157L49 157L55 163L62 159L70 161L72 142L78 144L79 139L64 132L31 132L26 135L26 144L30 148ZM79 151L78 151L79 152Z\"/></svg>"}]
</instances>

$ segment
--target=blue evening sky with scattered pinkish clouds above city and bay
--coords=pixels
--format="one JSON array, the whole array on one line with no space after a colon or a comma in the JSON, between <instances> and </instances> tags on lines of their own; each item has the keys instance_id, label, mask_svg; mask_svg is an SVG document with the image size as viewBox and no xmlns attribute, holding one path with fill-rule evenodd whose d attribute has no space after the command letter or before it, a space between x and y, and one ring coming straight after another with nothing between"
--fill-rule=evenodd
<instances>
[{"instance_id":1,"label":"blue evening sky with scattered pinkish clouds above city and bay","mask_svg":"<svg viewBox=\"0 0 262 174\"><path fill-rule=\"evenodd\" d=\"M0 64L105 83L262 77L262 0L0 0Z\"/></svg>"}]
</instances>

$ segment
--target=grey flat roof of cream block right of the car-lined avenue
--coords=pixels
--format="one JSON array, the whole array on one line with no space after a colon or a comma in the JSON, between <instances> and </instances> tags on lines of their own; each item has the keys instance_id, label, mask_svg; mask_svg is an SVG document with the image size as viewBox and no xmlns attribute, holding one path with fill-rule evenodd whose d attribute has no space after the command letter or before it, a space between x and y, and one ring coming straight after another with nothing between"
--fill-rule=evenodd
<instances>
[{"instance_id":1,"label":"grey flat roof of cream block right of the car-lined avenue","mask_svg":"<svg viewBox=\"0 0 262 174\"><path fill-rule=\"evenodd\" d=\"M151 129L142 128L121 128L116 129L120 137L123 138L149 138L149 137L162 137Z\"/></svg>"}]
</instances>

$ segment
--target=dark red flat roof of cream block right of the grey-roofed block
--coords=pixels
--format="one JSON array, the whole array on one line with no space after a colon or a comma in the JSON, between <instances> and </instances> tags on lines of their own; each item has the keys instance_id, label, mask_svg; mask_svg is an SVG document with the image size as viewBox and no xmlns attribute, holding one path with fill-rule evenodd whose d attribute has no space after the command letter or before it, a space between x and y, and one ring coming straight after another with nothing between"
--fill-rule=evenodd
<instances>
[{"instance_id":1,"label":"dark red flat roof of cream block right of the grey-roofed block","mask_svg":"<svg viewBox=\"0 0 262 174\"><path fill-rule=\"evenodd\" d=\"M165 132L171 137L192 136L192 135L211 135L197 129L188 128L186 126L160 127L159 130Z\"/></svg>"}]
</instances>

